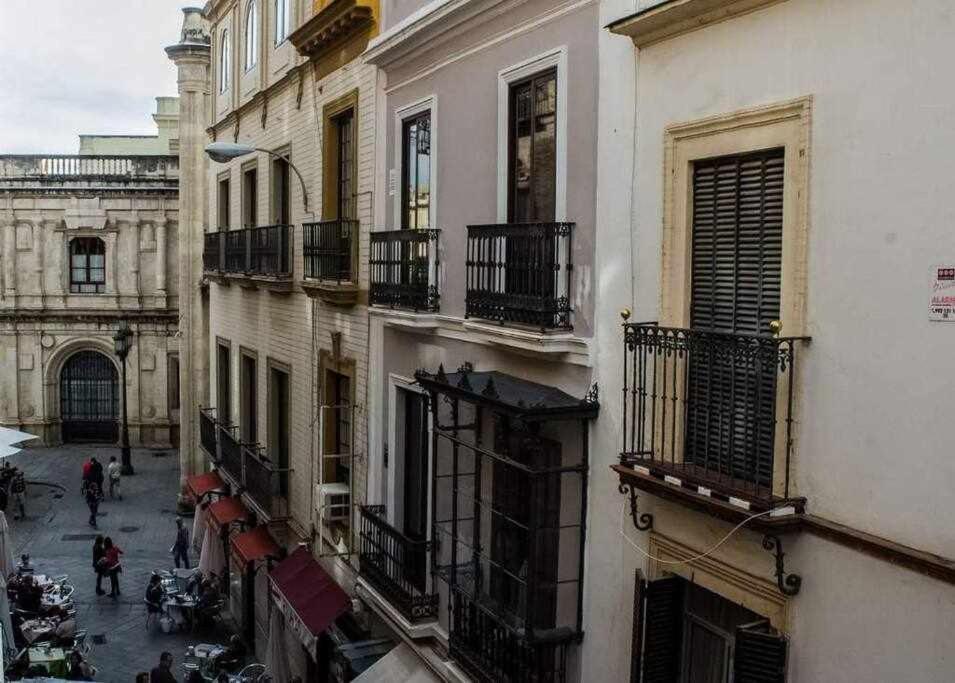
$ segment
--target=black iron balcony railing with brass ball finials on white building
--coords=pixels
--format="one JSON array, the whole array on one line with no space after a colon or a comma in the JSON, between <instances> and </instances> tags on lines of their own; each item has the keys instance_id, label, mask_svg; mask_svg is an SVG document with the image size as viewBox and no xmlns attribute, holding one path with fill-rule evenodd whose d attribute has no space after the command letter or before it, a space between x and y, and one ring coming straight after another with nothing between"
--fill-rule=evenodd
<instances>
[{"instance_id":1,"label":"black iron balcony railing with brass ball finials on white building","mask_svg":"<svg viewBox=\"0 0 955 683\"><path fill-rule=\"evenodd\" d=\"M800 342L624 325L621 464L764 504L790 498Z\"/></svg>"}]
</instances>

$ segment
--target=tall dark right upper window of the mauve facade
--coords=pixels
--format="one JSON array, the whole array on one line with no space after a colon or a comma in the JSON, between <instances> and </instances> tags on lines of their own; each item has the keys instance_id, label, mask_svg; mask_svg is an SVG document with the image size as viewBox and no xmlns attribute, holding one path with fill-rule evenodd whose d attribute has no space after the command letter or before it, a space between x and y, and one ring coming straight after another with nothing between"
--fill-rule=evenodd
<instances>
[{"instance_id":1,"label":"tall dark right upper window of the mauve facade","mask_svg":"<svg viewBox=\"0 0 955 683\"><path fill-rule=\"evenodd\" d=\"M557 70L510 85L508 222L549 222L557 199Z\"/></svg>"}]
</instances>

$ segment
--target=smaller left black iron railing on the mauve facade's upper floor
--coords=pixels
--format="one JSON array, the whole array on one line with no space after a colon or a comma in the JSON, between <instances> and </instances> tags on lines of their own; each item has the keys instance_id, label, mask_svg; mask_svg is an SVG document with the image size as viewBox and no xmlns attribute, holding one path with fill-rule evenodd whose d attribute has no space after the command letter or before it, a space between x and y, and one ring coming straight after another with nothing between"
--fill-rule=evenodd
<instances>
[{"instance_id":1,"label":"smaller left black iron railing on the mauve facade's upper floor","mask_svg":"<svg viewBox=\"0 0 955 683\"><path fill-rule=\"evenodd\" d=\"M436 311L440 230L386 230L371 233L368 300L414 311Z\"/></svg>"}]
</instances>

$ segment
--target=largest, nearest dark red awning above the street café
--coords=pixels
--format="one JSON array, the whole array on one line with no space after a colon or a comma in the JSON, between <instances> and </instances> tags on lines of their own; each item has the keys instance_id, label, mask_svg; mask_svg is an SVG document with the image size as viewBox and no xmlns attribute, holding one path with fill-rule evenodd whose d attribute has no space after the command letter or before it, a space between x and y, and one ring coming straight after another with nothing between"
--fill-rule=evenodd
<instances>
[{"instance_id":1,"label":"largest, nearest dark red awning above the street caf\u00e9","mask_svg":"<svg viewBox=\"0 0 955 683\"><path fill-rule=\"evenodd\" d=\"M299 548L282 560L269 578L275 604L285 615L289 630L314 653L318 635L348 611L348 594L307 548Z\"/></svg>"}]
</instances>

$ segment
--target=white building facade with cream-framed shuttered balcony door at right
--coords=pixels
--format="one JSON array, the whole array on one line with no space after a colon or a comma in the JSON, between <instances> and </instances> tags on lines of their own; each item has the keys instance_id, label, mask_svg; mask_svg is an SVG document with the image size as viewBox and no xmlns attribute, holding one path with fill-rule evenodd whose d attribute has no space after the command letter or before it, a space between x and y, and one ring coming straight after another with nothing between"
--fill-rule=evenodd
<instances>
[{"instance_id":1,"label":"white building facade with cream-framed shuttered balcony door at right","mask_svg":"<svg viewBox=\"0 0 955 683\"><path fill-rule=\"evenodd\" d=\"M916 65L952 12L633 9L601 6L583 680L950 680L955 100Z\"/></svg>"}]
</instances>

